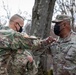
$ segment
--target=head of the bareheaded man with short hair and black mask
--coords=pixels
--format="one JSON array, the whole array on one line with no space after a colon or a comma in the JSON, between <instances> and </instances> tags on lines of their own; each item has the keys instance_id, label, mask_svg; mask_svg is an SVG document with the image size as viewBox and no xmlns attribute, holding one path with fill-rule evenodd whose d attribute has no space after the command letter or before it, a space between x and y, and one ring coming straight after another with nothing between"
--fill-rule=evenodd
<instances>
[{"instance_id":1,"label":"head of the bareheaded man with short hair and black mask","mask_svg":"<svg viewBox=\"0 0 76 75\"><path fill-rule=\"evenodd\" d=\"M9 27L17 32L22 32L24 25L24 19L22 16L15 14L9 20Z\"/></svg>"}]
</instances>

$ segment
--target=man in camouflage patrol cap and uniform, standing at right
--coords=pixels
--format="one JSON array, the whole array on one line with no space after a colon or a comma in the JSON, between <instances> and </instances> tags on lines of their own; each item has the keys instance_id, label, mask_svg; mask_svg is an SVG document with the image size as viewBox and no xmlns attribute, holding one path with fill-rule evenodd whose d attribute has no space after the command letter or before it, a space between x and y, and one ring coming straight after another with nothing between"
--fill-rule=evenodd
<instances>
[{"instance_id":1,"label":"man in camouflage patrol cap and uniform, standing at right","mask_svg":"<svg viewBox=\"0 0 76 75\"><path fill-rule=\"evenodd\" d=\"M54 33L59 39L51 43L54 75L76 75L76 33L71 31L71 17L57 15ZM54 40L51 36L46 43Z\"/></svg>"}]
</instances>

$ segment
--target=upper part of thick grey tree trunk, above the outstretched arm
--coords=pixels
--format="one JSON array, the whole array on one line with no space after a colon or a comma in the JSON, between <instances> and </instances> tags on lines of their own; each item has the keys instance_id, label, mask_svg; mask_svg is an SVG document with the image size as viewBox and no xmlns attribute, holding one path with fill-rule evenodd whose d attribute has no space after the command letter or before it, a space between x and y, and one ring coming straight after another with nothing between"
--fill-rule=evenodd
<instances>
[{"instance_id":1,"label":"upper part of thick grey tree trunk, above the outstretched arm","mask_svg":"<svg viewBox=\"0 0 76 75\"><path fill-rule=\"evenodd\" d=\"M32 12L31 35L42 39L50 35L55 1L56 0L35 0Z\"/></svg>"}]
</instances>

